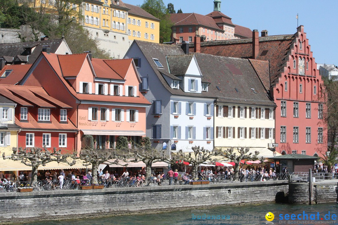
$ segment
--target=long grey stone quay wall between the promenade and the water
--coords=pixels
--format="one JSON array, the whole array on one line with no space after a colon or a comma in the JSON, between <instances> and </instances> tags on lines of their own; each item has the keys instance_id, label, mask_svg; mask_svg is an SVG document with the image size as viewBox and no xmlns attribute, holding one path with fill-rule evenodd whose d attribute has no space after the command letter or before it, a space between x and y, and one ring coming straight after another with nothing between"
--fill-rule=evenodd
<instances>
[{"instance_id":1,"label":"long grey stone quay wall between the promenade and the water","mask_svg":"<svg viewBox=\"0 0 338 225\"><path fill-rule=\"evenodd\" d=\"M0 224L283 201L287 181L0 193Z\"/></svg>"}]
</instances>

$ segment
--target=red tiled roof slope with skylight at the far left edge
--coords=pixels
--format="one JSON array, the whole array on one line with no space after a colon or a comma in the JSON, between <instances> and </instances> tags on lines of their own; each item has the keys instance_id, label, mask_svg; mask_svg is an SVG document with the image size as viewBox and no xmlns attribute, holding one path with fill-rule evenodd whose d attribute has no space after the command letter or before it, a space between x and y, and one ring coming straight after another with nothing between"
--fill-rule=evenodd
<instances>
[{"instance_id":1,"label":"red tiled roof slope with skylight at the far left edge","mask_svg":"<svg viewBox=\"0 0 338 225\"><path fill-rule=\"evenodd\" d=\"M0 71L0 84L15 85L26 75L32 64L25 65L5 65ZM7 77L1 77L6 70L13 70Z\"/></svg>"}]
</instances>

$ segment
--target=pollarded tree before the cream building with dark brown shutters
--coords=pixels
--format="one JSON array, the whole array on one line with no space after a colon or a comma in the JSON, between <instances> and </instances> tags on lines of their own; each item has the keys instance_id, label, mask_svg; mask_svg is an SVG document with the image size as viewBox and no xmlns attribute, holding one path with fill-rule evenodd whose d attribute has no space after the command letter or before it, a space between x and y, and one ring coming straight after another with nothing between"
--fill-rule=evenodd
<instances>
[{"instance_id":1,"label":"pollarded tree before the cream building with dark brown shutters","mask_svg":"<svg viewBox=\"0 0 338 225\"><path fill-rule=\"evenodd\" d=\"M226 150L221 149L219 155L225 160L229 160L235 163L234 177L233 180L237 181L239 178L239 165L241 160L257 160L259 151L255 151L254 154L250 152L250 148L237 148L237 152L234 152L234 148L227 148Z\"/></svg>"}]
</instances>

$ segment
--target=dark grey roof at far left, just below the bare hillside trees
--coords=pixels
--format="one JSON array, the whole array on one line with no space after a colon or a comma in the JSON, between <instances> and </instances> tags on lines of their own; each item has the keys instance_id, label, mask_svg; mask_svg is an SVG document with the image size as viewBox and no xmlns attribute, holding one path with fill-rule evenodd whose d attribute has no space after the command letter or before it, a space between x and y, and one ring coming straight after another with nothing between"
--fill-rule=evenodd
<instances>
[{"instance_id":1,"label":"dark grey roof at far left, just below the bare hillside trees","mask_svg":"<svg viewBox=\"0 0 338 225\"><path fill-rule=\"evenodd\" d=\"M0 44L0 55L16 57L17 55L26 55L24 48L25 47L35 47L28 56L28 63L32 64L39 57L42 46L49 45L50 52L55 53L58 47L62 44L62 39L57 40L43 40L43 41L32 41L32 42L21 42L21 43L6 43Z\"/></svg>"}]
</instances>

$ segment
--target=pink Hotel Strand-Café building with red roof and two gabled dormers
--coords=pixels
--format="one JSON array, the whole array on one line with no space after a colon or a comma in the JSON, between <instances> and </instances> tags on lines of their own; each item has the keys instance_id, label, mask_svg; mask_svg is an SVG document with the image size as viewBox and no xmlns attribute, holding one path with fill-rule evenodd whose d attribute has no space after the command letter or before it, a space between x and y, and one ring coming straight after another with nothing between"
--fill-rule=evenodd
<instances>
[{"instance_id":1,"label":"pink Hotel Strand-Caf\u00e9 building with red roof and two gabled dormers","mask_svg":"<svg viewBox=\"0 0 338 225\"><path fill-rule=\"evenodd\" d=\"M69 120L79 133L76 149L92 135L95 148L115 148L119 136L138 142L146 131L146 107L132 59L104 60L90 53L57 55L42 52L20 85L42 86L72 107ZM86 139L87 140L87 139Z\"/></svg>"}]
</instances>

